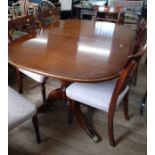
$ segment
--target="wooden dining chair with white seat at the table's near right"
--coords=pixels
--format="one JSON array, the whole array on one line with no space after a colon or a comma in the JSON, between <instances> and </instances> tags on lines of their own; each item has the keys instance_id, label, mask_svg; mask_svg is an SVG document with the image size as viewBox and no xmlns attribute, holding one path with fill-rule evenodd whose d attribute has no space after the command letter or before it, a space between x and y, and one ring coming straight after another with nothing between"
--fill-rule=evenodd
<instances>
[{"instance_id":1,"label":"wooden dining chair with white seat at the table's near right","mask_svg":"<svg viewBox=\"0 0 155 155\"><path fill-rule=\"evenodd\" d=\"M80 103L94 107L108 113L109 141L115 146L113 121L116 107L123 101L124 116L128 116L128 94L130 82L134 69L138 65L140 58L144 54L146 46L142 52L129 57L127 65L119 73L119 77L99 83L72 83L66 89L69 106L69 119L72 122L73 111Z\"/></svg>"}]
</instances>

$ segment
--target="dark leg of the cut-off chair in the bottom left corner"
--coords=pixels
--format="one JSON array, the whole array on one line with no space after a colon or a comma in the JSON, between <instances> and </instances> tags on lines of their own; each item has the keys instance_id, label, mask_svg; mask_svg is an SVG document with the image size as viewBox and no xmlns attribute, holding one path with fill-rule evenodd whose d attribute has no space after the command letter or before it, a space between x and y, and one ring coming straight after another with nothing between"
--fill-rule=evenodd
<instances>
[{"instance_id":1,"label":"dark leg of the cut-off chair in the bottom left corner","mask_svg":"<svg viewBox=\"0 0 155 155\"><path fill-rule=\"evenodd\" d=\"M37 142L40 143L39 123L37 115L32 117L32 123L34 126Z\"/></svg>"}]
</instances>

